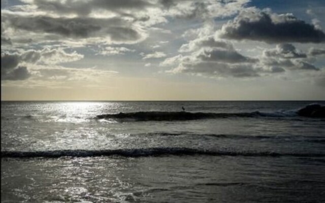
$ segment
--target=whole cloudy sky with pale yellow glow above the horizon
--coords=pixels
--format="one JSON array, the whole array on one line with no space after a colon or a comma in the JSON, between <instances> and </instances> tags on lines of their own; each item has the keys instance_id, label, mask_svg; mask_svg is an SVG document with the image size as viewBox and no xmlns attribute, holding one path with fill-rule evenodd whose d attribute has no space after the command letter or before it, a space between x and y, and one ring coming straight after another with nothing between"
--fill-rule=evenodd
<instances>
[{"instance_id":1,"label":"whole cloudy sky with pale yellow glow above the horizon","mask_svg":"<svg viewBox=\"0 0 325 203\"><path fill-rule=\"evenodd\" d=\"M1 1L2 100L325 100L325 1Z\"/></svg>"}]
</instances>

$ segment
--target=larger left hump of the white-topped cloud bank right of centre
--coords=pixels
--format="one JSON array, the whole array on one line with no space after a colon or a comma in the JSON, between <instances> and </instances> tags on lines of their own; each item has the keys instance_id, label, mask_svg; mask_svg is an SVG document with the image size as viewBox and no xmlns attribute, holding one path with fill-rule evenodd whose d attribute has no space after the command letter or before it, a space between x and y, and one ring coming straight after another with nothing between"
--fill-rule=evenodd
<instances>
[{"instance_id":1,"label":"larger left hump of the white-topped cloud bank right of centre","mask_svg":"<svg viewBox=\"0 0 325 203\"><path fill-rule=\"evenodd\" d=\"M174 66L170 73L187 73L206 77L257 77L263 71L254 65L258 60L238 53L229 42L215 40L207 36L183 45L177 55L165 59L162 66ZM267 72L267 71L265 71Z\"/></svg>"}]
</instances>

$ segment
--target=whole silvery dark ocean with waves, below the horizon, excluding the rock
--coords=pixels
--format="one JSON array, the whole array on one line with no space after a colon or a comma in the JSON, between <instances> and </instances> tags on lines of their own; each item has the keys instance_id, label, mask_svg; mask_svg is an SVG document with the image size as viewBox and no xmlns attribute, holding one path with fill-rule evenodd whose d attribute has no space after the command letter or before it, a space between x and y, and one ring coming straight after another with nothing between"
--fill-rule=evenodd
<instances>
[{"instance_id":1,"label":"whole silvery dark ocean with waves, below the horizon, excluding the rock","mask_svg":"<svg viewBox=\"0 0 325 203\"><path fill-rule=\"evenodd\" d=\"M312 103L2 101L1 202L325 202Z\"/></svg>"}]
</instances>

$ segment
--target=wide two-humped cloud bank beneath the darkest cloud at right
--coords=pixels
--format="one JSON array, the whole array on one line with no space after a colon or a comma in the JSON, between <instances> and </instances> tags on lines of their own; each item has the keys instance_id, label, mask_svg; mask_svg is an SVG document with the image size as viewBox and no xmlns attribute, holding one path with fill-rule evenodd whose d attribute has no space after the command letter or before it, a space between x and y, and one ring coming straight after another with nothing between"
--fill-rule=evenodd
<instances>
[{"instance_id":1,"label":"wide two-humped cloud bank beneath the darkest cloud at right","mask_svg":"<svg viewBox=\"0 0 325 203\"><path fill-rule=\"evenodd\" d=\"M287 71L318 71L309 56L292 44L279 44L266 49L261 57L252 58L239 53L230 42L213 36L199 37L184 44L176 55L166 58L161 66L173 67L169 73L187 73L213 78L247 78Z\"/></svg>"}]
</instances>

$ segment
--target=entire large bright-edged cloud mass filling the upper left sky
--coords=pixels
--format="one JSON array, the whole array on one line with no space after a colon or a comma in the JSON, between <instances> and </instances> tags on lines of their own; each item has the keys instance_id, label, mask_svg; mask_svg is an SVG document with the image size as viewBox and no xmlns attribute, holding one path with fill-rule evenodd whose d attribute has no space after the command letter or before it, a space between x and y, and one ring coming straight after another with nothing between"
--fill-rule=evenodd
<instances>
[{"instance_id":1,"label":"entire large bright-edged cloud mass filling the upper left sky","mask_svg":"<svg viewBox=\"0 0 325 203\"><path fill-rule=\"evenodd\" d=\"M249 0L25 0L2 10L2 42L13 44L56 42L67 44L135 44L153 27L172 18L231 16Z\"/></svg>"}]
</instances>

